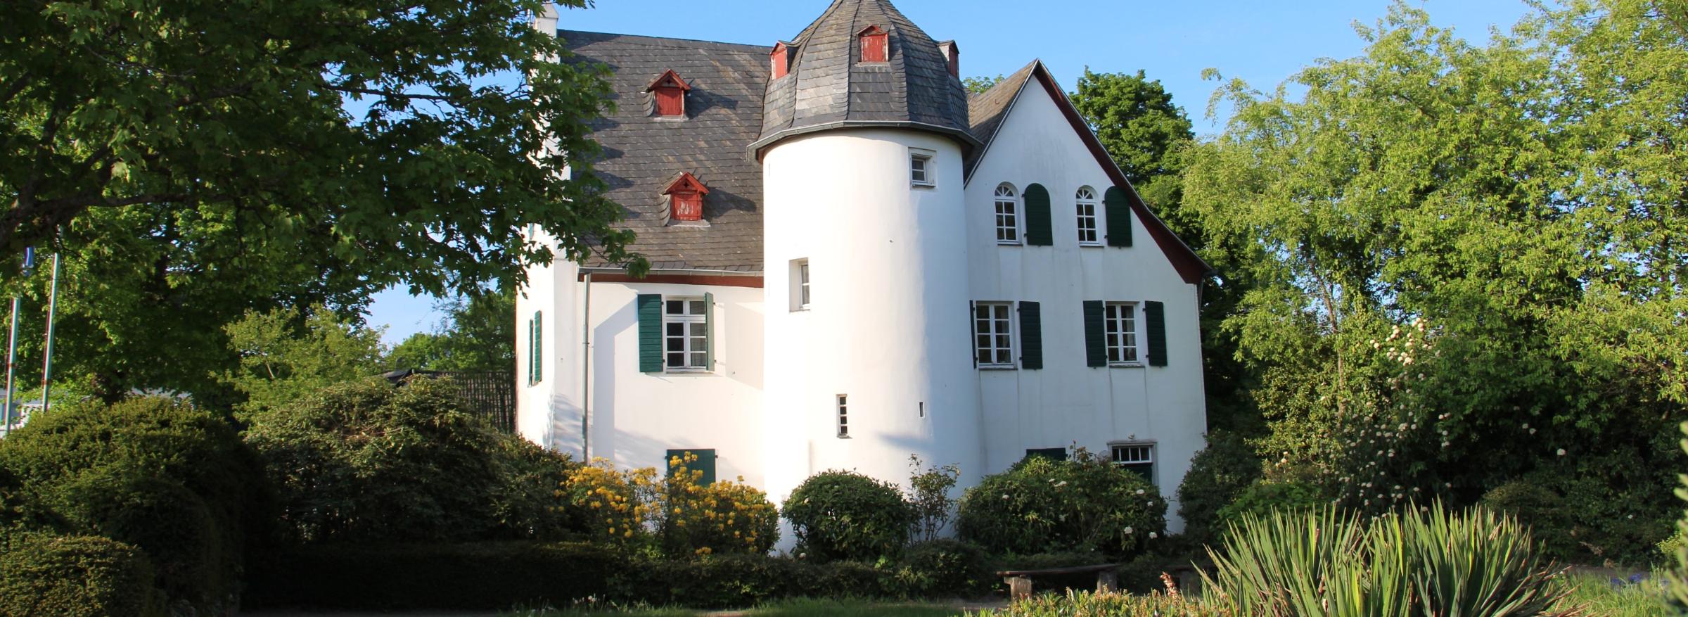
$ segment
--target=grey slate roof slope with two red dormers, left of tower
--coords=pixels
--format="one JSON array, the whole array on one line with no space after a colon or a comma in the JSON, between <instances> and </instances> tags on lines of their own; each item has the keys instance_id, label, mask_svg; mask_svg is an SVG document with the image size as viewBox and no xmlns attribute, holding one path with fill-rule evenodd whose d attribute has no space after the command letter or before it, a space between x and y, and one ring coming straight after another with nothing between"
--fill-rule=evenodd
<instances>
[{"instance_id":1,"label":"grey slate roof slope with two red dormers, left of tower","mask_svg":"<svg viewBox=\"0 0 1688 617\"><path fill-rule=\"evenodd\" d=\"M744 147L761 132L768 47L559 30L577 56L611 71L616 112L592 122L594 164L626 208L633 250L657 270L761 272L761 164ZM685 118L657 118L650 83L674 71L692 90ZM662 191L680 172L709 188L706 223L668 225ZM587 267L613 267L591 259Z\"/></svg>"}]
</instances>

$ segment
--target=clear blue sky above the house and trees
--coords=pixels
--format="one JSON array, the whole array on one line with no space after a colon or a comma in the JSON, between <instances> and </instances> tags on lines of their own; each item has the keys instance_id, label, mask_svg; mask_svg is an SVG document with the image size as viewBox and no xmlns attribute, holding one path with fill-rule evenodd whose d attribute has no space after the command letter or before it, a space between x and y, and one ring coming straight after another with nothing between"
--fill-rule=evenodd
<instances>
[{"instance_id":1,"label":"clear blue sky above the house and trees","mask_svg":"<svg viewBox=\"0 0 1688 617\"><path fill-rule=\"evenodd\" d=\"M564 10L572 30L641 34L773 46L792 39L830 0L599 0L587 10ZM1364 41L1354 22L1376 24L1388 0L901 0L898 8L933 39L960 46L962 74L1008 74L1041 57L1069 91L1085 66L1097 73L1143 69L1160 79L1195 122L1205 118L1215 83L1202 71L1242 78L1268 90L1320 57L1350 57ZM1409 2L1431 22L1485 41L1491 27L1507 29L1531 8L1523 0ZM1222 118L1220 118L1222 122ZM375 296L370 323L387 325L388 343L439 321L434 299L405 291Z\"/></svg>"}]
</instances>

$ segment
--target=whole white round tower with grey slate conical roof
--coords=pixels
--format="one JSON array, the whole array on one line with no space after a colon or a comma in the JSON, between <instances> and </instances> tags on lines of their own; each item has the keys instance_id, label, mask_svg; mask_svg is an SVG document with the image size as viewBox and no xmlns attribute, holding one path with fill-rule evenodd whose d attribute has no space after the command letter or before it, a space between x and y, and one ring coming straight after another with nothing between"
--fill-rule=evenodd
<instances>
[{"instance_id":1,"label":"whole white round tower with grey slate conical roof","mask_svg":"<svg viewBox=\"0 0 1688 617\"><path fill-rule=\"evenodd\" d=\"M836 0L773 47L763 130L768 489L908 456L981 472L954 44ZM969 483L964 480L964 483Z\"/></svg>"}]
</instances>

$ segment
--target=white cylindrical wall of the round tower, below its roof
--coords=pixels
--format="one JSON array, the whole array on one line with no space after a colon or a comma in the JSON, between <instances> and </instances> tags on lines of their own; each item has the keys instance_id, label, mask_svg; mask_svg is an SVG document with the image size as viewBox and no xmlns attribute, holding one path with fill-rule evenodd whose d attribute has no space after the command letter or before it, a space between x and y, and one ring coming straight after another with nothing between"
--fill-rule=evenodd
<instances>
[{"instance_id":1,"label":"white cylindrical wall of the round tower, below its roof","mask_svg":"<svg viewBox=\"0 0 1688 617\"><path fill-rule=\"evenodd\" d=\"M910 186L910 149L935 186ZM940 135L858 128L790 139L763 157L770 495L842 468L908 478L908 456L981 473L969 360L960 149ZM810 264L793 311L790 264ZM849 438L837 396L849 396Z\"/></svg>"}]
</instances>

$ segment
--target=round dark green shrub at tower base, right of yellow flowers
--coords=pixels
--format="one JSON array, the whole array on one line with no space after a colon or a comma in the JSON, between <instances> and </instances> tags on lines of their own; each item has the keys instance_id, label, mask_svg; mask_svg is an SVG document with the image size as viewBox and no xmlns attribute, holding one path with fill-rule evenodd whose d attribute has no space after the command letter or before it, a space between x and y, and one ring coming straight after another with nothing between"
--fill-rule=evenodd
<instances>
[{"instance_id":1,"label":"round dark green shrub at tower base, right of yellow flowers","mask_svg":"<svg viewBox=\"0 0 1688 617\"><path fill-rule=\"evenodd\" d=\"M792 521L797 551L819 561L895 558L915 522L895 485L837 470L803 480L782 516Z\"/></svg>"}]
</instances>

